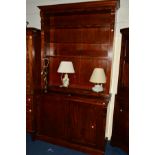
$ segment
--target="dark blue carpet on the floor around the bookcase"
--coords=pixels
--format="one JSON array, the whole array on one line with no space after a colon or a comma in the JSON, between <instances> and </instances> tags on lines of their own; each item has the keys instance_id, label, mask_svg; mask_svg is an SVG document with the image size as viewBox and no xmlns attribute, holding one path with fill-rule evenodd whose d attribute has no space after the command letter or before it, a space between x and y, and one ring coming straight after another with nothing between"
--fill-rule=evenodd
<instances>
[{"instance_id":1,"label":"dark blue carpet on the floor around the bookcase","mask_svg":"<svg viewBox=\"0 0 155 155\"><path fill-rule=\"evenodd\" d=\"M105 155L127 155L123 150L106 144ZM26 134L26 155L89 155L76 150L60 147L44 141L32 141L31 136Z\"/></svg>"}]
</instances>

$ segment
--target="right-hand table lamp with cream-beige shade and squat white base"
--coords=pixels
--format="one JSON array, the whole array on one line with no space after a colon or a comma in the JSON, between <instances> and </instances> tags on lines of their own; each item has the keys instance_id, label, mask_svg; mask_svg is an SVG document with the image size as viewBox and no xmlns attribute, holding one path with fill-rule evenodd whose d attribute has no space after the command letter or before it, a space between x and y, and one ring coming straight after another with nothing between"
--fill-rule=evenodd
<instances>
[{"instance_id":1,"label":"right-hand table lamp with cream-beige shade and squat white base","mask_svg":"<svg viewBox=\"0 0 155 155\"><path fill-rule=\"evenodd\" d=\"M106 82L104 69L95 68L89 81L96 84L94 87L92 87L92 90L94 92L102 92L103 91L102 83Z\"/></svg>"}]
</instances>

